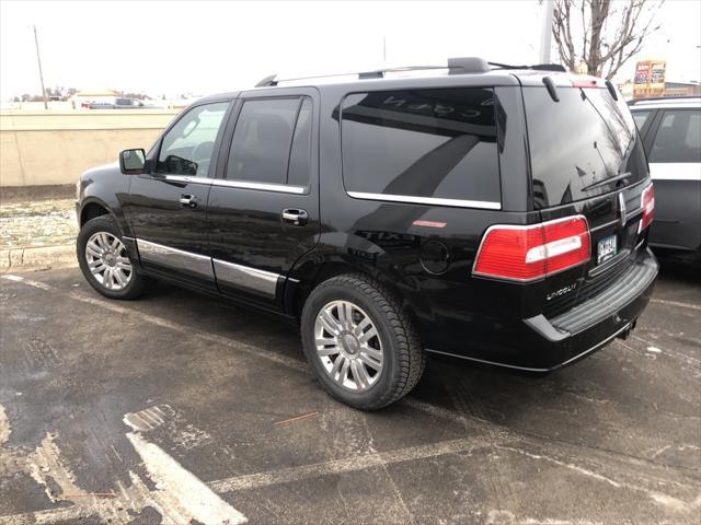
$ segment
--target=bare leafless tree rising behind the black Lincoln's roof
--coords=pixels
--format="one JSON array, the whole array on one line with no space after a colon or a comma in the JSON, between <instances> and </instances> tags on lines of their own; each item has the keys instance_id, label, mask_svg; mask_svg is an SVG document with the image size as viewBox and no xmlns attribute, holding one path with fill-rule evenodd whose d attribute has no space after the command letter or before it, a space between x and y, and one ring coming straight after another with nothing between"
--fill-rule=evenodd
<instances>
[{"instance_id":1,"label":"bare leafless tree rising behind the black Lincoln's roof","mask_svg":"<svg viewBox=\"0 0 701 525\"><path fill-rule=\"evenodd\" d=\"M563 66L611 79L659 28L665 0L555 0L552 35Z\"/></svg>"}]
</instances>

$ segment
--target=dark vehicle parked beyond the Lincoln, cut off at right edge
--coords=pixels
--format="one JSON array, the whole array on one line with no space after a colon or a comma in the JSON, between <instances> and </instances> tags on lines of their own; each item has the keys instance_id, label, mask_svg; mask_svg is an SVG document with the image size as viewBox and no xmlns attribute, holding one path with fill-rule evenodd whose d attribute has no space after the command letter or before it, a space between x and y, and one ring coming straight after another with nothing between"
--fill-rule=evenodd
<instances>
[{"instance_id":1,"label":"dark vehicle parked beyond the Lincoln, cut off at right edge","mask_svg":"<svg viewBox=\"0 0 701 525\"><path fill-rule=\"evenodd\" d=\"M633 101L630 108L655 182L650 245L701 264L701 97Z\"/></svg>"}]
</instances>

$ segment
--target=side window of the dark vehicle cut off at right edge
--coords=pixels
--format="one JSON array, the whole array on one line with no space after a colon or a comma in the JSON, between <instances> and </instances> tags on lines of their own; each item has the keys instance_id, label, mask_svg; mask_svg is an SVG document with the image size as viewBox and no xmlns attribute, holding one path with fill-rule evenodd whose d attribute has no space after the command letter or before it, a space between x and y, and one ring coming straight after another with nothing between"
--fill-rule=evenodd
<instances>
[{"instance_id":1,"label":"side window of the dark vehicle cut off at right edge","mask_svg":"<svg viewBox=\"0 0 701 525\"><path fill-rule=\"evenodd\" d=\"M666 110L650 162L701 162L701 110Z\"/></svg>"}]
</instances>

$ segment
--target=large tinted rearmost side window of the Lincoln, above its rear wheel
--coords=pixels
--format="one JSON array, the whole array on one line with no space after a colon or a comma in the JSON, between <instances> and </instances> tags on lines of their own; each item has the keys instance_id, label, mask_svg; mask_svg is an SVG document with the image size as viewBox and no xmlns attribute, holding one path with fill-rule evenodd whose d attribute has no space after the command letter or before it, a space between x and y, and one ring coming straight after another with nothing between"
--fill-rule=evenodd
<instances>
[{"instance_id":1,"label":"large tinted rearmost side window of the Lincoln, above its rear wheel","mask_svg":"<svg viewBox=\"0 0 701 525\"><path fill-rule=\"evenodd\" d=\"M492 90L352 94L341 120L343 180L352 196L489 201L498 208Z\"/></svg>"}]
</instances>

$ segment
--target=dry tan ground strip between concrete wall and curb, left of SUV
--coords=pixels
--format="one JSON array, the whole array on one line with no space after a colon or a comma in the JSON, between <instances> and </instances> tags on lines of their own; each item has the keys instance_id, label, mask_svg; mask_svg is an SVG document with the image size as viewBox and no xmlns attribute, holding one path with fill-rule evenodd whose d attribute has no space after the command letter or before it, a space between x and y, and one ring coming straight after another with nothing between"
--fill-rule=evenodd
<instances>
[{"instance_id":1,"label":"dry tan ground strip between concrete wall and curb, left of SUV","mask_svg":"<svg viewBox=\"0 0 701 525\"><path fill-rule=\"evenodd\" d=\"M0 205L0 248L70 244L77 234L73 199Z\"/></svg>"}]
</instances>

